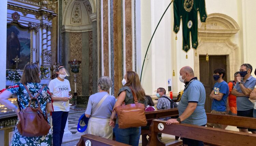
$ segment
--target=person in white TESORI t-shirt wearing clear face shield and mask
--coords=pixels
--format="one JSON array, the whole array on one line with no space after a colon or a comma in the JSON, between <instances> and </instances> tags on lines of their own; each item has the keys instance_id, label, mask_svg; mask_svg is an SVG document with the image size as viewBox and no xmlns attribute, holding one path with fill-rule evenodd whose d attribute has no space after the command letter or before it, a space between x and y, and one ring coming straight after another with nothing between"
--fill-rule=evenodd
<instances>
[{"instance_id":1,"label":"person in white TESORI t-shirt wearing clear face shield and mask","mask_svg":"<svg viewBox=\"0 0 256 146\"><path fill-rule=\"evenodd\" d=\"M60 146L69 113L69 100L72 95L69 81L65 79L67 72L65 67L59 66L56 70L57 78L49 83L52 94L52 122L53 122L53 146Z\"/></svg>"}]
</instances>

